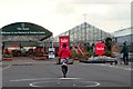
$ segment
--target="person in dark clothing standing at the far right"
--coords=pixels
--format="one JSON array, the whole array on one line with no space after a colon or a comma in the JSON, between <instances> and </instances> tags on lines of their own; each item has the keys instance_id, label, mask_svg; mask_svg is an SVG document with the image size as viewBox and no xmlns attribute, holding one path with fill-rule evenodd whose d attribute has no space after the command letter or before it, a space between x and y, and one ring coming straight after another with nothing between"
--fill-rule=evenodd
<instances>
[{"instance_id":1,"label":"person in dark clothing standing at the far right","mask_svg":"<svg viewBox=\"0 0 133 89\"><path fill-rule=\"evenodd\" d=\"M124 65L129 65L129 48L126 46L126 42L123 43L123 49L121 51L121 53L123 53L123 61L124 61Z\"/></svg>"}]
</instances>

